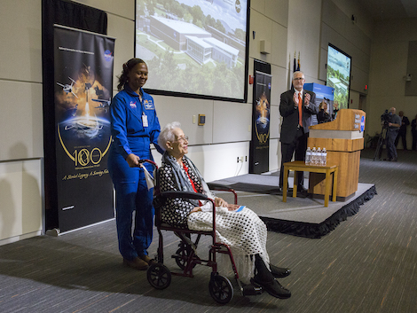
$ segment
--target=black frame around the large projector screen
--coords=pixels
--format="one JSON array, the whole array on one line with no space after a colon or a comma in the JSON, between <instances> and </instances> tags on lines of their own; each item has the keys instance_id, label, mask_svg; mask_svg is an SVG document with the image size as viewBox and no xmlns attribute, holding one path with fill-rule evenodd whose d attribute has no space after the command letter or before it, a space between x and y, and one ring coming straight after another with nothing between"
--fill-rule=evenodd
<instances>
[{"instance_id":1,"label":"black frame around the large projector screen","mask_svg":"<svg viewBox=\"0 0 417 313\"><path fill-rule=\"evenodd\" d=\"M137 56L137 31L138 31L138 1L135 0L135 36L134 36L134 55L135 58ZM208 1L208 0L206 0ZM239 0L235 0L239 2ZM245 57L243 58L244 61L244 73L243 77L241 78L241 83L243 83L243 93L240 98L236 97L226 97L226 96L215 96L215 95L207 95L207 94L199 94L193 92L183 92L183 91L173 91L173 90L161 90L161 89L154 89L154 88L146 88L144 86L144 90L152 95L161 95L161 96L170 96L170 97L178 97L178 98L199 98L199 99L208 99L208 100L217 100L217 101L227 101L227 102L238 102L238 103L247 103L248 102L248 62L249 62L249 29L250 29L250 0L247 1L247 12L246 12L246 36L245 36ZM210 1L209 1L210 2ZM146 63L148 61L145 59ZM152 68L149 68L149 75L152 75Z\"/></svg>"}]
</instances>

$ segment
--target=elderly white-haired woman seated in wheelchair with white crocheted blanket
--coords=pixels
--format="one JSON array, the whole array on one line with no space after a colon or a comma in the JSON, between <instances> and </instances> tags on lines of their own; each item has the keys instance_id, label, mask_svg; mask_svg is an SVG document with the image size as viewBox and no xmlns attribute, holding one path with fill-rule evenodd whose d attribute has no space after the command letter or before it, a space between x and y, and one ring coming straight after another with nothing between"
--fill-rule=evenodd
<instances>
[{"instance_id":1,"label":"elderly white-haired woman seated in wheelchair with white crocheted blanket","mask_svg":"<svg viewBox=\"0 0 417 313\"><path fill-rule=\"evenodd\" d=\"M165 149L158 171L161 192L199 192L207 200L169 198L161 207L161 221L178 228L194 231L213 229L213 208L216 205L216 239L230 247L236 267L243 282L250 281L279 299L291 296L275 278L284 278L290 270L270 264L266 251L266 225L248 207L229 204L210 192L199 170L185 154L188 153L188 137L178 122L162 129L158 144Z\"/></svg>"}]
</instances>

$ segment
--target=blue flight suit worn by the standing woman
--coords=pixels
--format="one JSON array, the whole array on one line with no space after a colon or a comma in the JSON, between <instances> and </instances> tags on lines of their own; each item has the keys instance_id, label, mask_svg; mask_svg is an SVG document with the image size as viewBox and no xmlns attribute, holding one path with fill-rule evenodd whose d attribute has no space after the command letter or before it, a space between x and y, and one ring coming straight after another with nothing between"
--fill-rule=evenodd
<instances>
[{"instance_id":1,"label":"blue flight suit worn by the standing woman","mask_svg":"<svg viewBox=\"0 0 417 313\"><path fill-rule=\"evenodd\" d=\"M116 191L116 225L119 251L126 260L147 255L153 235L153 191L148 191L144 170L130 168L126 161L130 153L140 159L153 160L151 144L163 153L157 144L161 126L156 116L153 98L142 91L138 94L125 84L124 90L114 96L110 106L112 136L114 139L108 157L108 170ZM148 126L144 125L146 115ZM152 173L152 165L145 163ZM132 215L136 210L133 237Z\"/></svg>"}]
</instances>

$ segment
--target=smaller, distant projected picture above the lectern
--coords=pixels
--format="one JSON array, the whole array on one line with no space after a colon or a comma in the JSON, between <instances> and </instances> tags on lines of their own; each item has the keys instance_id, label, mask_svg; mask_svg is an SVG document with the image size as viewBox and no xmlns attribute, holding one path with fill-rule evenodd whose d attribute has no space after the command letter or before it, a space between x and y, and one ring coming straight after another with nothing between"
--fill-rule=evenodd
<instances>
[{"instance_id":1,"label":"smaller, distant projected picture above the lectern","mask_svg":"<svg viewBox=\"0 0 417 313\"><path fill-rule=\"evenodd\" d=\"M349 106L350 63L349 56L328 46L327 86L334 88L334 103L339 104L339 109Z\"/></svg>"}]
</instances>

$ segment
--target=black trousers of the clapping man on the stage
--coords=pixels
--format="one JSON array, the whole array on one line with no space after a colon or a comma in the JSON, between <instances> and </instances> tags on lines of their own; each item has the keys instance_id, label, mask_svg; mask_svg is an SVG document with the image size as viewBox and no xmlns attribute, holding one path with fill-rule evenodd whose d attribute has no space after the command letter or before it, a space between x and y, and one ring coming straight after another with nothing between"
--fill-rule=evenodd
<instances>
[{"instance_id":1,"label":"black trousers of the clapping man on the stage","mask_svg":"<svg viewBox=\"0 0 417 313\"><path fill-rule=\"evenodd\" d=\"M297 135L292 143L281 143L281 168L279 171L279 187L284 185L284 163L293 160L295 153L295 160L305 160L305 151L307 150L307 139L309 133L304 133L303 128L297 129ZM304 172L295 173L294 184L303 185Z\"/></svg>"}]
</instances>

